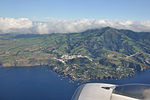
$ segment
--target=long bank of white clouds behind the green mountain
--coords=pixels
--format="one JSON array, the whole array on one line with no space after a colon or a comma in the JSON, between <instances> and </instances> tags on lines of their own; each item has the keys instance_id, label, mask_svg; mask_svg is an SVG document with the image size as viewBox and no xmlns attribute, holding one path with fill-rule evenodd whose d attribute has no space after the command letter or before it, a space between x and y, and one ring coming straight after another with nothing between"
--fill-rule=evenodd
<instances>
[{"instance_id":1,"label":"long bank of white clouds behind the green mountain","mask_svg":"<svg viewBox=\"0 0 150 100\"><path fill-rule=\"evenodd\" d=\"M102 27L129 29L150 32L150 21L131 20L53 20L49 22L33 22L28 18L0 18L0 33L50 34L82 32L87 29Z\"/></svg>"}]
</instances>

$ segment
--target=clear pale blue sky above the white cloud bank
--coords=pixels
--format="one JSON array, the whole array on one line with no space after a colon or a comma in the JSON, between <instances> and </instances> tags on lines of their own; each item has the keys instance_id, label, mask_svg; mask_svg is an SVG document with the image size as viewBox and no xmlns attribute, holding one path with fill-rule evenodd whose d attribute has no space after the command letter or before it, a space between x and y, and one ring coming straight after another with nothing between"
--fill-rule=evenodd
<instances>
[{"instance_id":1,"label":"clear pale blue sky above the white cloud bank","mask_svg":"<svg viewBox=\"0 0 150 100\"><path fill-rule=\"evenodd\" d=\"M0 0L0 17L149 20L150 0Z\"/></svg>"}]
</instances>

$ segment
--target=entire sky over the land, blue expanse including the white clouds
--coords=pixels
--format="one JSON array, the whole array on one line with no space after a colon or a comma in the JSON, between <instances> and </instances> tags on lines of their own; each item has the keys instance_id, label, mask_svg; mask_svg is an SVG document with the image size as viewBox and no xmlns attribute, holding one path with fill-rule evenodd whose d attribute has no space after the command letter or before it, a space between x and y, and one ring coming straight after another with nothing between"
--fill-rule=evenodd
<instances>
[{"instance_id":1,"label":"entire sky over the land, blue expanse including the white clouds","mask_svg":"<svg viewBox=\"0 0 150 100\"><path fill-rule=\"evenodd\" d=\"M150 0L0 0L0 33L150 32Z\"/></svg>"}]
</instances>

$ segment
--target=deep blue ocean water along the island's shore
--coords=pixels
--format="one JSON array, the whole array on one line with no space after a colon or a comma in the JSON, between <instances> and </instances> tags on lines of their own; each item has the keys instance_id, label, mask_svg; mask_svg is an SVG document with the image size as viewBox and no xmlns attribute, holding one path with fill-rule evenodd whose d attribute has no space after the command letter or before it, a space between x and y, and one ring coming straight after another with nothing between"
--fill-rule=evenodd
<instances>
[{"instance_id":1,"label":"deep blue ocean water along the island's shore","mask_svg":"<svg viewBox=\"0 0 150 100\"><path fill-rule=\"evenodd\" d=\"M71 100L79 83L71 82L48 69L42 66L0 68L0 100ZM149 76L150 70L147 70L130 78L90 82L150 84Z\"/></svg>"}]
</instances>

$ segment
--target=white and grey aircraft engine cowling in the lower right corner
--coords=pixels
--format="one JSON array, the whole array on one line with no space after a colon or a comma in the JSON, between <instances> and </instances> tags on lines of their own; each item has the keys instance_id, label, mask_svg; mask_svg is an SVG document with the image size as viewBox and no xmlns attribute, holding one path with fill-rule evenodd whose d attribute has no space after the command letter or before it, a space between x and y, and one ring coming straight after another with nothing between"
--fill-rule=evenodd
<instances>
[{"instance_id":1,"label":"white and grey aircraft engine cowling in the lower right corner","mask_svg":"<svg viewBox=\"0 0 150 100\"><path fill-rule=\"evenodd\" d=\"M76 90L72 100L150 100L150 85L88 83Z\"/></svg>"}]
</instances>

